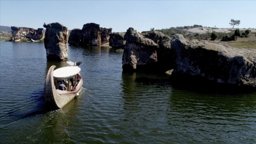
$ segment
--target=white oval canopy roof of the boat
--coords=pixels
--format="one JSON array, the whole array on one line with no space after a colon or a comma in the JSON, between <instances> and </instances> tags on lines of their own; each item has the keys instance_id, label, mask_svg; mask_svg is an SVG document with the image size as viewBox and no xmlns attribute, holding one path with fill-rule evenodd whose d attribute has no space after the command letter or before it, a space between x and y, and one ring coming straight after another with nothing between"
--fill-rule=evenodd
<instances>
[{"instance_id":1,"label":"white oval canopy roof of the boat","mask_svg":"<svg viewBox=\"0 0 256 144\"><path fill-rule=\"evenodd\" d=\"M67 66L59 69L55 69L53 71L53 77L59 80L65 80L74 77L76 74L80 72L80 68L78 66Z\"/></svg>"}]
</instances>

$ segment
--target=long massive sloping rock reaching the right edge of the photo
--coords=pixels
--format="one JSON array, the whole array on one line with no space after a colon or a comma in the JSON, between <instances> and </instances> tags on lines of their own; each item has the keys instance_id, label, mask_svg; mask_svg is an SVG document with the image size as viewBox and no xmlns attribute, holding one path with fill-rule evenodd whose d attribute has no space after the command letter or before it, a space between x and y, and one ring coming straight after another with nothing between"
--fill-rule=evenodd
<instances>
[{"instance_id":1,"label":"long massive sloping rock reaching the right edge of the photo","mask_svg":"<svg viewBox=\"0 0 256 144\"><path fill-rule=\"evenodd\" d=\"M219 84L256 87L256 50L172 38L176 68L172 75L199 76Z\"/></svg>"}]
</instances>

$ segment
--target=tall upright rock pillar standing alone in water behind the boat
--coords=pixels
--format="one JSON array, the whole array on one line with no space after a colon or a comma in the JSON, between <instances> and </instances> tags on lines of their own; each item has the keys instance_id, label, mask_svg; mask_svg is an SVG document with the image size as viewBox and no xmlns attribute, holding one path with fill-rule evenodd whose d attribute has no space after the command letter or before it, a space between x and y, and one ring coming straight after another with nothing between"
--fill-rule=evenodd
<instances>
[{"instance_id":1,"label":"tall upright rock pillar standing alone in water behind the boat","mask_svg":"<svg viewBox=\"0 0 256 144\"><path fill-rule=\"evenodd\" d=\"M68 28L56 22L44 24L46 28L44 47L49 61L62 61L68 59Z\"/></svg>"}]
</instances>

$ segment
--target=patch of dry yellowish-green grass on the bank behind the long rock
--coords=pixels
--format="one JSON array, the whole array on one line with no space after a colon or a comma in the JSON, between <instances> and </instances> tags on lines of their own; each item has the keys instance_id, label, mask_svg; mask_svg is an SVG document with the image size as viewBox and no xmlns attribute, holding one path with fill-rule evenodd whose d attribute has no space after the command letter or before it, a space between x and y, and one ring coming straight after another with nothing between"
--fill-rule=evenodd
<instances>
[{"instance_id":1,"label":"patch of dry yellowish-green grass on the bank behind the long rock","mask_svg":"<svg viewBox=\"0 0 256 144\"><path fill-rule=\"evenodd\" d=\"M245 48L256 49L256 36L252 33L250 37L238 37L235 41L221 42L221 41L209 41L211 43L224 43L233 48Z\"/></svg>"}]
</instances>

